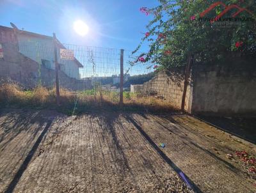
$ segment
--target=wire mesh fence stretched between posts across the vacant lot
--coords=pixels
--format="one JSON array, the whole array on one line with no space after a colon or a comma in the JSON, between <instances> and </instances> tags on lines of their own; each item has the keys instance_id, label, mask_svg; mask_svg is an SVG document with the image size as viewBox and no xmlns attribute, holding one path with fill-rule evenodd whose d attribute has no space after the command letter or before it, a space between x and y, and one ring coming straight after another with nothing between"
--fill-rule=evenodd
<instances>
[{"instance_id":1,"label":"wire mesh fence stretched between posts across the vacant lot","mask_svg":"<svg viewBox=\"0 0 256 193\"><path fill-rule=\"evenodd\" d=\"M84 110L118 107L120 90L123 108L135 111L179 111L184 88L185 66L158 72L150 61L138 61L139 54L120 49L21 40L1 43L1 82L15 82L24 91L40 86L56 95L56 70L62 105L75 104ZM121 79L120 65L124 65ZM134 63L134 61L138 61ZM53 97L54 98L54 97ZM188 106L188 101L186 101Z\"/></svg>"}]
</instances>

